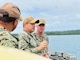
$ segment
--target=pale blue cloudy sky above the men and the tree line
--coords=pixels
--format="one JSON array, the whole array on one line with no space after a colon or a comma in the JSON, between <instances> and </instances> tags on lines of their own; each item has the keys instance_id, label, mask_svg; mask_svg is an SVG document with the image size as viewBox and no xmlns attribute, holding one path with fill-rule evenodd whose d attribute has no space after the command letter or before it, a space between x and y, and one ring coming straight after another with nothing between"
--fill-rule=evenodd
<instances>
[{"instance_id":1,"label":"pale blue cloudy sky above the men and the tree line","mask_svg":"<svg viewBox=\"0 0 80 60\"><path fill-rule=\"evenodd\" d=\"M80 0L0 0L0 6L6 2L19 6L23 19L44 18L45 31L80 29ZM22 29L20 22L13 33L20 33Z\"/></svg>"}]
</instances>

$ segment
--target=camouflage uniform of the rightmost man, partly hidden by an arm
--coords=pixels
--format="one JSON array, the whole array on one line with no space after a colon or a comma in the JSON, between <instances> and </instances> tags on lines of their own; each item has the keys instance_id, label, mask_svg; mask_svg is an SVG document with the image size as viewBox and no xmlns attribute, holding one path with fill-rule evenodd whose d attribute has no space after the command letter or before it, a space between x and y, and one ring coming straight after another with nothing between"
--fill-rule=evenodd
<instances>
[{"instance_id":1,"label":"camouflage uniform of the rightmost man, partly hidden by an arm","mask_svg":"<svg viewBox=\"0 0 80 60\"><path fill-rule=\"evenodd\" d=\"M46 40L46 41L49 43L48 37L47 37L47 35L46 35L45 33L43 33L42 36L39 36L37 33L34 33L34 36L36 37L36 40L38 40L39 44L40 44L42 41L44 41L44 40ZM48 48L48 47L47 47L47 48ZM44 48L43 50L41 50L40 55L43 55L44 53L47 53L46 48Z\"/></svg>"}]
</instances>

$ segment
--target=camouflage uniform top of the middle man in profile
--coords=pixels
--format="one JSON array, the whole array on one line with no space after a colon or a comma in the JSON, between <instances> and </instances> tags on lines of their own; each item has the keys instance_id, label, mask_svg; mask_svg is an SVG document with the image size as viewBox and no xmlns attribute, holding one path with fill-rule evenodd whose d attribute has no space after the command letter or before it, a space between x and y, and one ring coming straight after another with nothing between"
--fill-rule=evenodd
<instances>
[{"instance_id":1,"label":"camouflage uniform top of the middle man in profile","mask_svg":"<svg viewBox=\"0 0 80 60\"><path fill-rule=\"evenodd\" d=\"M37 51L38 41L34 38L34 36L26 31L23 31L19 35L19 49L39 53Z\"/></svg>"}]
</instances>

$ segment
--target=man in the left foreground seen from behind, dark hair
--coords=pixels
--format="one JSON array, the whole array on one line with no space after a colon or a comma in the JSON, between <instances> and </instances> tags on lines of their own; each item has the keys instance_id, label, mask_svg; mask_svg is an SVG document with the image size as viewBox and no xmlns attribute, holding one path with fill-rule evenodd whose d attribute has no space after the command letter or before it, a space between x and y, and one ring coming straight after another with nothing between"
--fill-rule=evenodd
<instances>
[{"instance_id":1,"label":"man in the left foreground seen from behind, dark hair","mask_svg":"<svg viewBox=\"0 0 80 60\"><path fill-rule=\"evenodd\" d=\"M6 3L0 8L0 45L18 47L18 40L10 34L20 18L19 8L12 3Z\"/></svg>"}]
</instances>

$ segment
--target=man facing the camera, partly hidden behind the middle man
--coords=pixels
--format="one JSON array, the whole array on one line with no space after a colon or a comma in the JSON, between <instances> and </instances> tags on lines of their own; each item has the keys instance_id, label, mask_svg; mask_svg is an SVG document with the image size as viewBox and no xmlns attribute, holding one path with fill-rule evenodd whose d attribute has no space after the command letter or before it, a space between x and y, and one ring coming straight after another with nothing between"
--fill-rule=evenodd
<instances>
[{"instance_id":1,"label":"man facing the camera, partly hidden behind the middle man","mask_svg":"<svg viewBox=\"0 0 80 60\"><path fill-rule=\"evenodd\" d=\"M48 44L48 37L44 33L45 20L44 19L39 19L39 23L36 25L36 28L37 28L37 31L36 31L36 33L34 33L36 39L39 41L39 43L46 42ZM44 57L49 57L48 46L46 46L45 48L43 48L41 50L41 55L44 56Z\"/></svg>"}]
</instances>

